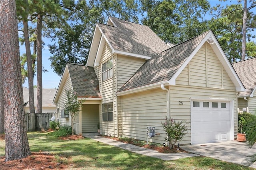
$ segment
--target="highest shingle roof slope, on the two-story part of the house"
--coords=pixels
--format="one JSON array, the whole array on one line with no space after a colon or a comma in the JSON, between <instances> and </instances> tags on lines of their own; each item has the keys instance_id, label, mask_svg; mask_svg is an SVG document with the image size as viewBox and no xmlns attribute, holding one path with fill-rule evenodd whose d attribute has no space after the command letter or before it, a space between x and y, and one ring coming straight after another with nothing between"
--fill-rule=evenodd
<instances>
[{"instance_id":1,"label":"highest shingle roof slope, on the two-story part of the house","mask_svg":"<svg viewBox=\"0 0 256 170\"><path fill-rule=\"evenodd\" d=\"M110 17L115 26L98 23L114 50L153 56L168 49L148 26Z\"/></svg>"}]
</instances>

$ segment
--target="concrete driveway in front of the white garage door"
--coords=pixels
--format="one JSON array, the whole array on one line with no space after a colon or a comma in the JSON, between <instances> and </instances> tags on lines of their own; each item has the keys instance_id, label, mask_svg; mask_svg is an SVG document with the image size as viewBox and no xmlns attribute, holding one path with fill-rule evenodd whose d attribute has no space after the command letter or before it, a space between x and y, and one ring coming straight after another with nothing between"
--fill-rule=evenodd
<instances>
[{"instance_id":1,"label":"concrete driveway in front of the white garage door","mask_svg":"<svg viewBox=\"0 0 256 170\"><path fill-rule=\"evenodd\" d=\"M256 154L256 144L249 149L245 142L238 142L236 140L180 146L180 148L194 154L208 156L237 164L244 164L246 156ZM256 163L254 162L254 164L252 164L250 167L256 168Z\"/></svg>"}]
</instances>

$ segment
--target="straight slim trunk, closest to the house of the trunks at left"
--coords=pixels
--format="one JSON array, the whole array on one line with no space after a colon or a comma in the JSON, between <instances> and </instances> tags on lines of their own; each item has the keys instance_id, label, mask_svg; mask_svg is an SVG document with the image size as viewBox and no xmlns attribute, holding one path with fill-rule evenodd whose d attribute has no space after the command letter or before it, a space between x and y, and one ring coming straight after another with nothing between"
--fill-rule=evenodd
<instances>
[{"instance_id":1,"label":"straight slim trunk, closest to the house of the trunks at left","mask_svg":"<svg viewBox=\"0 0 256 170\"><path fill-rule=\"evenodd\" d=\"M36 113L42 113L42 22L43 16L38 14L36 24L36 81L37 81L37 103Z\"/></svg>"}]
</instances>

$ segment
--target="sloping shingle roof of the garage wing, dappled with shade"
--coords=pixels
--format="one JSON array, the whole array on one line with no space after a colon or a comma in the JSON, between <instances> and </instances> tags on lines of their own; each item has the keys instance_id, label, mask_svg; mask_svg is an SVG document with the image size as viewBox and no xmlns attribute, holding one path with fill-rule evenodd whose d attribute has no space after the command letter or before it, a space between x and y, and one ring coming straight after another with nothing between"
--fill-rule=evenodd
<instances>
[{"instance_id":1,"label":"sloping shingle roof of the garage wing, dappled with shade","mask_svg":"<svg viewBox=\"0 0 256 170\"><path fill-rule=\"evenodd\" d=\"M209 32L209 31L208 31ZM189 55L208 34L205 32L167 49L146 61L130 80L118 91L126 91L145 85L169 81Z\"/></svg>"}]
</instances>

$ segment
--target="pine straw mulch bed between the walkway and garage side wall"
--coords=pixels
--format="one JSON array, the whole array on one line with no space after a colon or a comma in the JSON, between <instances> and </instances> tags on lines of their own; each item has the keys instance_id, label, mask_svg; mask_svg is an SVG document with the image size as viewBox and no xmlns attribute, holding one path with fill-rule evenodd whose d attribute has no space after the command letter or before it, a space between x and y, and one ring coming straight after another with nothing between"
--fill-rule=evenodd
<instances>
[{"instance_id":1,"label":"pine straw mulch bed between the walkway and garage side wall","mask_svg":"<svg viewBox=\"0 0 256 170\"><path fill-rule=\"evenodd\" d=\"M104 138L110 138L110 139L113 139L113 140L118 140L120 142L140 146L140 144L138 144L138 142L136 142L136 141L140 141L140 140L132 139L132 140L129 140L129 141L124 141L122 138L118 138L118 137L112 137L112 136L106 136L106 135L101 135L101 136L104 137ZM179 152L190 153L186 150L183 150L182 148L175 147L174 149L170 149L168 146L159 146L159 145L156 145L156 144L153 144L153 145L145 144L145 145L140 146L140 147L148 148L148 149L154 149L154 150L156 150L160 153L179 153Z\"/></svg>"}]
</instances>

